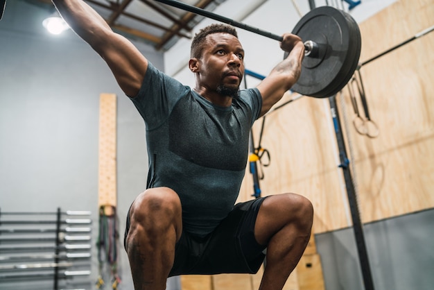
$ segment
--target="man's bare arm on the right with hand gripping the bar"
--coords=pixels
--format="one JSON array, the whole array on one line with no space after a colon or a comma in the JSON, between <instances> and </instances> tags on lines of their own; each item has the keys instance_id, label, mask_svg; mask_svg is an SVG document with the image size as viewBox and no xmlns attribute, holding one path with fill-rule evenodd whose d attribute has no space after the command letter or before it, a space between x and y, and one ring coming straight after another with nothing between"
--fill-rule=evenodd
<instances>
[{"instance_id":1,"label":"man's bare arm on the right with hand gripping the bar","mask_svg":"<svg viewBox=\"0 0 434 290\"><path fill-rule=\"evenodd\" d=\"M304 44L300 37L290 33L283 35L281 49L288 51L288 56L281 61L270 74L257 86L262 96L261 116L275 105L285 92L295 83L302 72Z\"/></svg>"}]
</instances>

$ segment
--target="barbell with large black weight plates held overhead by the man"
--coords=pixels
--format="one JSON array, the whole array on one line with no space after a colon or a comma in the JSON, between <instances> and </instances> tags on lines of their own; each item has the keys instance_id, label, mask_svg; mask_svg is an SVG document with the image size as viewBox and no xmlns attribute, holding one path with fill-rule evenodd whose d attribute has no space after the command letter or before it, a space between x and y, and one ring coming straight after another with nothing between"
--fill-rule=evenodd
<instances>
[{"instance_id":1,"label":"barbell with large black weight plates held overhead by the man","mask_svg":"<svg viewBox=\"0 0 434 290\"><path fill-rule=\"evenodd\" d=\"M236 22L213 12L175 0L155 0L160 3L193 12L218 22L263 35L273 40L283 38L268 31ZM356 21L347 12L331 6L322 6L308 12L292 31L304 42L305 58L302 74L291 88L305 96L327 98L347 85L357 68L361 53L361 33ZM284 54L284 57L288 53Z\"/></svg>"}]
</instances>

